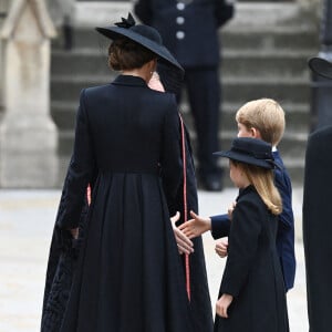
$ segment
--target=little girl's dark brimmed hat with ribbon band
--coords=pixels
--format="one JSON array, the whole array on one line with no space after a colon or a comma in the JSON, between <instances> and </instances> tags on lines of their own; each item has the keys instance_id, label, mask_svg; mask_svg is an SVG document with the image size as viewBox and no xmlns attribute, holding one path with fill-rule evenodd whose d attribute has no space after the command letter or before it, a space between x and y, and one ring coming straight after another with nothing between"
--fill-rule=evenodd
<instances>
[{"instance_id":1,"label":"little girl's dark brimmed hat with ribbon band","mask_svg":"<svg viewBox=\"0 0 332 332\"><path fill-rule=\"evenodd\" d=\"M271 144L258 138L235 138L229 151L216 152L214 155L268 169L276 166Z\"/></svg>"}]
</instances>

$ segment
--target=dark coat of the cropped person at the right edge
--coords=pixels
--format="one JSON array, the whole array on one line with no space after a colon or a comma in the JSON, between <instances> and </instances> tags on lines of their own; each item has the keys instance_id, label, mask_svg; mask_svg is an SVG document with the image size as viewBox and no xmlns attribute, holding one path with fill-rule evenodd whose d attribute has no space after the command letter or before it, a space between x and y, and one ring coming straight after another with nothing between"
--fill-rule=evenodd
<instances>
[{"instance_id":1,"label":"dark coat of the cropped person at the right edge","mask_svg":"<svg viewBox=\"0 0 332 332\"><path fill-rule=\"evenodd\" d=\"M303 187L303 243L310 332L332 326L332 126L309 136Z\"/></svg>"}]
</instances>

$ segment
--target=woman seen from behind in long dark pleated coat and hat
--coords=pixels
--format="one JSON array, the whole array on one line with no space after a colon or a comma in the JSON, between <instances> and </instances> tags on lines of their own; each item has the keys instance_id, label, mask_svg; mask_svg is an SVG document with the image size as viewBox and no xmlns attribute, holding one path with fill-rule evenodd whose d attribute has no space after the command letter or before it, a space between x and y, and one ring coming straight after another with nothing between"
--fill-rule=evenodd
<instances>
[{"instance_id":1,"label":"woman seen from behind in long dark pleated coat and hat","mask_svg":"<svg viewBox=\"0 0 332 332\"><path fill-rule=\"evenodd\" d=\"M92 198L68 292L59 290L66 271L54 273L51 248L42 331L198 331L178 253L193 249L179 250L169 220L184 177L177 103L174 94L147 85L157 61L183 69L159 33L132 15L96 30L113 41L108 62L121 74L81 93L56 255L64 241L80 238L87 185ZM66 298L65 308L56 305L59 297ZM211 312L204 314L211 324Z\"/></svg>"}]
</instances>

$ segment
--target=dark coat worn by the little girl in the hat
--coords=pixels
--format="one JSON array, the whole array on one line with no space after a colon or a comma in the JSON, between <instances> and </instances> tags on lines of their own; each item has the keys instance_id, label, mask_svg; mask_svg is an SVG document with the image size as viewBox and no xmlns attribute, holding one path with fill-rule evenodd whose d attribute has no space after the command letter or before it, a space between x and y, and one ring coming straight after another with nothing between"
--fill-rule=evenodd
<instances>
[{"instance_id":1,"label":"dark coat worn by the little girl in the hat","mask_svg":"<svg viewBox=\"0 0 332 332\"><path fill-rule=\"evenodd\" d=\"M219 297L234 297L217 332L287 332L283 278L276 249L278 218L252 186L240 190L230 224L229 247Z\"/></svg>"}]
</instances>

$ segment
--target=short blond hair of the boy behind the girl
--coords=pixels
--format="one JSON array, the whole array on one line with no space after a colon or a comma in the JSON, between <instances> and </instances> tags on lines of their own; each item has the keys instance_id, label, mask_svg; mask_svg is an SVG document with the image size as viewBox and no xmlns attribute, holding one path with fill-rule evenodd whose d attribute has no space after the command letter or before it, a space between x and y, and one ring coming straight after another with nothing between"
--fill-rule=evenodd
<instances>
[{"instance_id":1,"label":"short blond hair of the boy behind the girl","mask_svg":"<svg viewBox=\"0 0 332 332\"><path fill-rule=\"evenodd\" d=\"M248 129L258 129L261 138L272 146L279 144L284 132L284 111L271 98L246 103L237 112L236 121Z\"/></svg>"}]
</instances>

